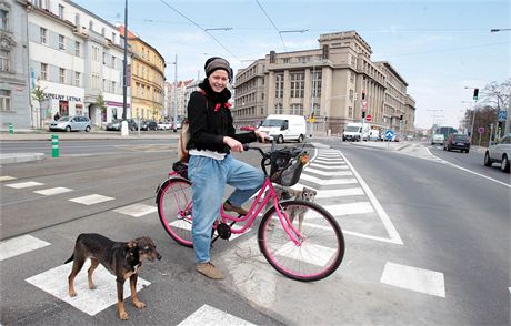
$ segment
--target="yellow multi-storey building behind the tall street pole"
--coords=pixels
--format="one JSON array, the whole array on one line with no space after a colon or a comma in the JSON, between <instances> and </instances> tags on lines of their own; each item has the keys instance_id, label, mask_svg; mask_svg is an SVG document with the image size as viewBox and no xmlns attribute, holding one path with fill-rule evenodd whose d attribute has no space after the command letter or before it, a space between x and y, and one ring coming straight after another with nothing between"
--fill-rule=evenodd
<instances>
[{"instance_id":1,"label":"yellow multi-storey building behind the tall street pole","mask_svg":"<svg viewBox=\"0 0 511 326\"><path fill-rule=\"evenodd\" d=\"M119 27L121 35L124 28ZM131 119L160 121L164 110L163 57L138 35L128 31L128 44L133 55L131 60Z\"/></svg>"}]
</instances>

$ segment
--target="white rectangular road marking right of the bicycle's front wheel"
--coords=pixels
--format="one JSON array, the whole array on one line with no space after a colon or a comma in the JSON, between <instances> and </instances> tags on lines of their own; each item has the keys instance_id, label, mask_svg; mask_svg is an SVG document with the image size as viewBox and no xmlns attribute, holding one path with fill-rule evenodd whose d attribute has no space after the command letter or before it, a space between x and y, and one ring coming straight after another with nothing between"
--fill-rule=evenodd
<instances>
[{"instance_id":1,"label":"white rectangular road marking right of the bicycle's front wheel","mask_svg":"<svg viewBox=\"0 0 511 326\"><path fill-rule=\"evenodd\" d=\"M387 262L381 283L445 297L443 273Z\"/></svg>"}]
</instances>

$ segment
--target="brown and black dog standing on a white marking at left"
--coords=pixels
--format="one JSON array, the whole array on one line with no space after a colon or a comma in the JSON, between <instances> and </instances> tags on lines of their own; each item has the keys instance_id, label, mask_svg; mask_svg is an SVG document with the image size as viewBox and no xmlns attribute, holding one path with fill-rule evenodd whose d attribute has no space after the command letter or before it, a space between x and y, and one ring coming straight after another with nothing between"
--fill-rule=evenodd
<instances>
[{"instance_id":1,"label":"brown and black dog standing on a white marking at left","mask_svg":"<svg viewBox=\"0 0 511 326\"><path fill-rule=\"evenodd\" d=\"M148 236L138 237L129 242L114 242L97 233L82 233L78 236L74 244L74 251L64 264L73 261L71 274L69 274L69 295L76 296L74 277L83 267L87 258L90 258L91 265L88 269L89 288L94 289L92 273L99 264L103 265L117 278L117 307L119 317L128 319L124 309L124 281L130 278L131 300L137 308L143 308L144 303L137 297L137 272L142 266L143 259L161 259L157 247Z\"/></svg>"}]
</instances>

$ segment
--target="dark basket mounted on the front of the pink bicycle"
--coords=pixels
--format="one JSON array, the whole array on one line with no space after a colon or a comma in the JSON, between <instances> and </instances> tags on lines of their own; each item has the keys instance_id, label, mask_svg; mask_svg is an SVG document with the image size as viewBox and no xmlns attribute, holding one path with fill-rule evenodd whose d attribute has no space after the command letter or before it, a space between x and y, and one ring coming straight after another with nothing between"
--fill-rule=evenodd
<instances>
[{"instance_id":1,"label":"dark basket mounted on the front of the pink bicycle","mask_svg":"<svg viewBox=\"0 0 511 326\"><path fill-rule=\"evenodd\" d=\"M270 181L283 186L297 184L307 162L309 155L299 149L284 147L271 153Z\"/></svg>"}]
</instances>

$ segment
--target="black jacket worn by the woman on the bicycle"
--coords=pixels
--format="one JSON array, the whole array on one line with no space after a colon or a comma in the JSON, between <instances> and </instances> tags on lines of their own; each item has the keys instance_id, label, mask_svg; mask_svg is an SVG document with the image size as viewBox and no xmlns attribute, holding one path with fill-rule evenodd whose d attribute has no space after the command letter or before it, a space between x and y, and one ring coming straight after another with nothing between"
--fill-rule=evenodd
<instances>
[{"instance_id":1,"label":"black jacket worn by the woman on the bicycle","mask_svg":"<svg viewBox=\"0 0 511 326\"><path fill-rule=\"evenodd\" d=\"M257 141L254 132L236 134L231 110L227 104L231 96L228 89L216 93L211 90L207 79L199 86L202 92L191 93L188 102L190 141L187 147L189 150L229 153L229 146L223 143L224 136L230 136L243 144Z\"/></svg>"}]
</instances>

